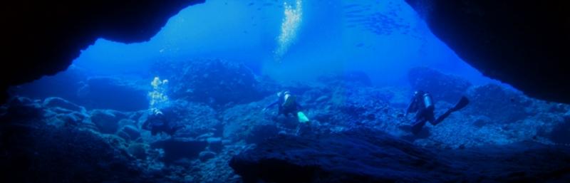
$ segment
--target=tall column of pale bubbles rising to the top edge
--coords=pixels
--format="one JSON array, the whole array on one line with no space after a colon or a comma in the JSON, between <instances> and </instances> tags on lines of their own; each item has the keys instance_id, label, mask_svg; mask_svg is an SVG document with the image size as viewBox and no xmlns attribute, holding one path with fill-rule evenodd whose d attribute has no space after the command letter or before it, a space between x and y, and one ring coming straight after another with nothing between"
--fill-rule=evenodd
<instances>
[{"instance_id":1,"label":"tall column of pale bubbles rising to the top edge","mask_svg":"<svg viewBox=\"0 0 570 183\"><path fill-rule=\"evenodd\" d=\"M296 0L295 6L291 4L283 3L284 7L284 18L283 23L281 23L281 34L277 37L277 48L275 51L275 58L277 61L284 56L284 54L289 50L289 47L296 40L297 32L299 31L299 26L303 19L303 7L302 1Z\"/></svg>"}]
</instances>

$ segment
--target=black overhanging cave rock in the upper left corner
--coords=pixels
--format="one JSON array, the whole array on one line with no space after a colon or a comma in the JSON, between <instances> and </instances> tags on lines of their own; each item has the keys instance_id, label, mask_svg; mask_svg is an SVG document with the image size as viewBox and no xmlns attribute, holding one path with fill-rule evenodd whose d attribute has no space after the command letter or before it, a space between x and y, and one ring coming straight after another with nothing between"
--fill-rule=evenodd
<instances>
[{"instance_id":1,"label":"black overhanging cave rock in the upper left corner","mask_svg":"<svg viewBox=\"0 0 570 183\"><path fill-rule=\"evenodd\" d=\"M65 70L97 38L147 41L181 9L204 0L13 1L0 8L7 46L0 67L0 103L9 85Z\"/></svg>"}]
</instances>

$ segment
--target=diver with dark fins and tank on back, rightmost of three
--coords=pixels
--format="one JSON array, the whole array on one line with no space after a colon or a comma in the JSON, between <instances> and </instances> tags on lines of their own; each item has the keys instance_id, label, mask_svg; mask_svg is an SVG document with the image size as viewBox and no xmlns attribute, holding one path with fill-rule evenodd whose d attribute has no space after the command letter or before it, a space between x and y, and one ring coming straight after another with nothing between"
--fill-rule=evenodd
<instances>
[{"instance_id":1,"label":"diver with dark fins and tank on back, rightmost of three","mask_svg":"<svg viewBox=\"0 0 570 183\"><path fill-rule=\"evenodd\" d=\"M469 104L469 100L465 96L462 96L453 108L448 109L445 113L440 115L440 117L435 119L433 114L435 105L433 103L432 96L430 93L418 90L415 91L412 101L410 102L410 105L408 105L408 109L405 111L405 115L408 115L408 113L415 113L415 122L412 124L412 132L414 135L418 135L425 125L425 122L429 121L432 125L437 125L451 113L465 108L467 104Z\"/></svg>"}]
</instances>

